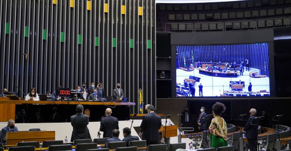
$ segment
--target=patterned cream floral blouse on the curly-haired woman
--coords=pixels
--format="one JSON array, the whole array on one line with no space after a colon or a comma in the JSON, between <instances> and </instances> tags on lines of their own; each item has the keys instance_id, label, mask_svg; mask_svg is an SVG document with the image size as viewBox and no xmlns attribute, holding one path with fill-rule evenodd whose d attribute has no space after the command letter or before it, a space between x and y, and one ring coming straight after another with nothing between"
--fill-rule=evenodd
<instances>
[{"instance_id":1,"label":"patterned cream floral blouse on the curly-haired woman","mask_svg":"<svg viewBox=\"0 0 291 151\"><path fill-rule=\"evenodd\" d=\"M219 118L222 118L222 117L219 117ZM226 127L226 122L225 120L222 118L223 120L223 125L221 126L219 124L219 118L213 118L211 120L211 124L209 126L209 131L210 133L212 133L212 135L215 135L215 136L220 136L220 137L223 137L226 135L227 131L227 127Z\"/></svg>"}]
</instances>

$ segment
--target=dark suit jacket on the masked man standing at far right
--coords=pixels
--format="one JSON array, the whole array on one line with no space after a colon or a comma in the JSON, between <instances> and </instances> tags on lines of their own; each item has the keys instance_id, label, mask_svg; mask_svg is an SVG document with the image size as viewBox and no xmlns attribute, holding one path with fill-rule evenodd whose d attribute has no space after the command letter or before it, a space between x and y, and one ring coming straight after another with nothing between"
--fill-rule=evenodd
<instances>
[{"instance_id":1,"label":"dark suit jacket on the masked man standing at far right","mask_svg":"<svg viewBox=\"0 0 291 151\"><path fill-rule=\"evenodd\" d=\"M249 117L246 126L243 128L243 130L246 131L246 138L257 139L257 119L255 119L255 117L256 115Z\"/></svg>"}]
</instances>

